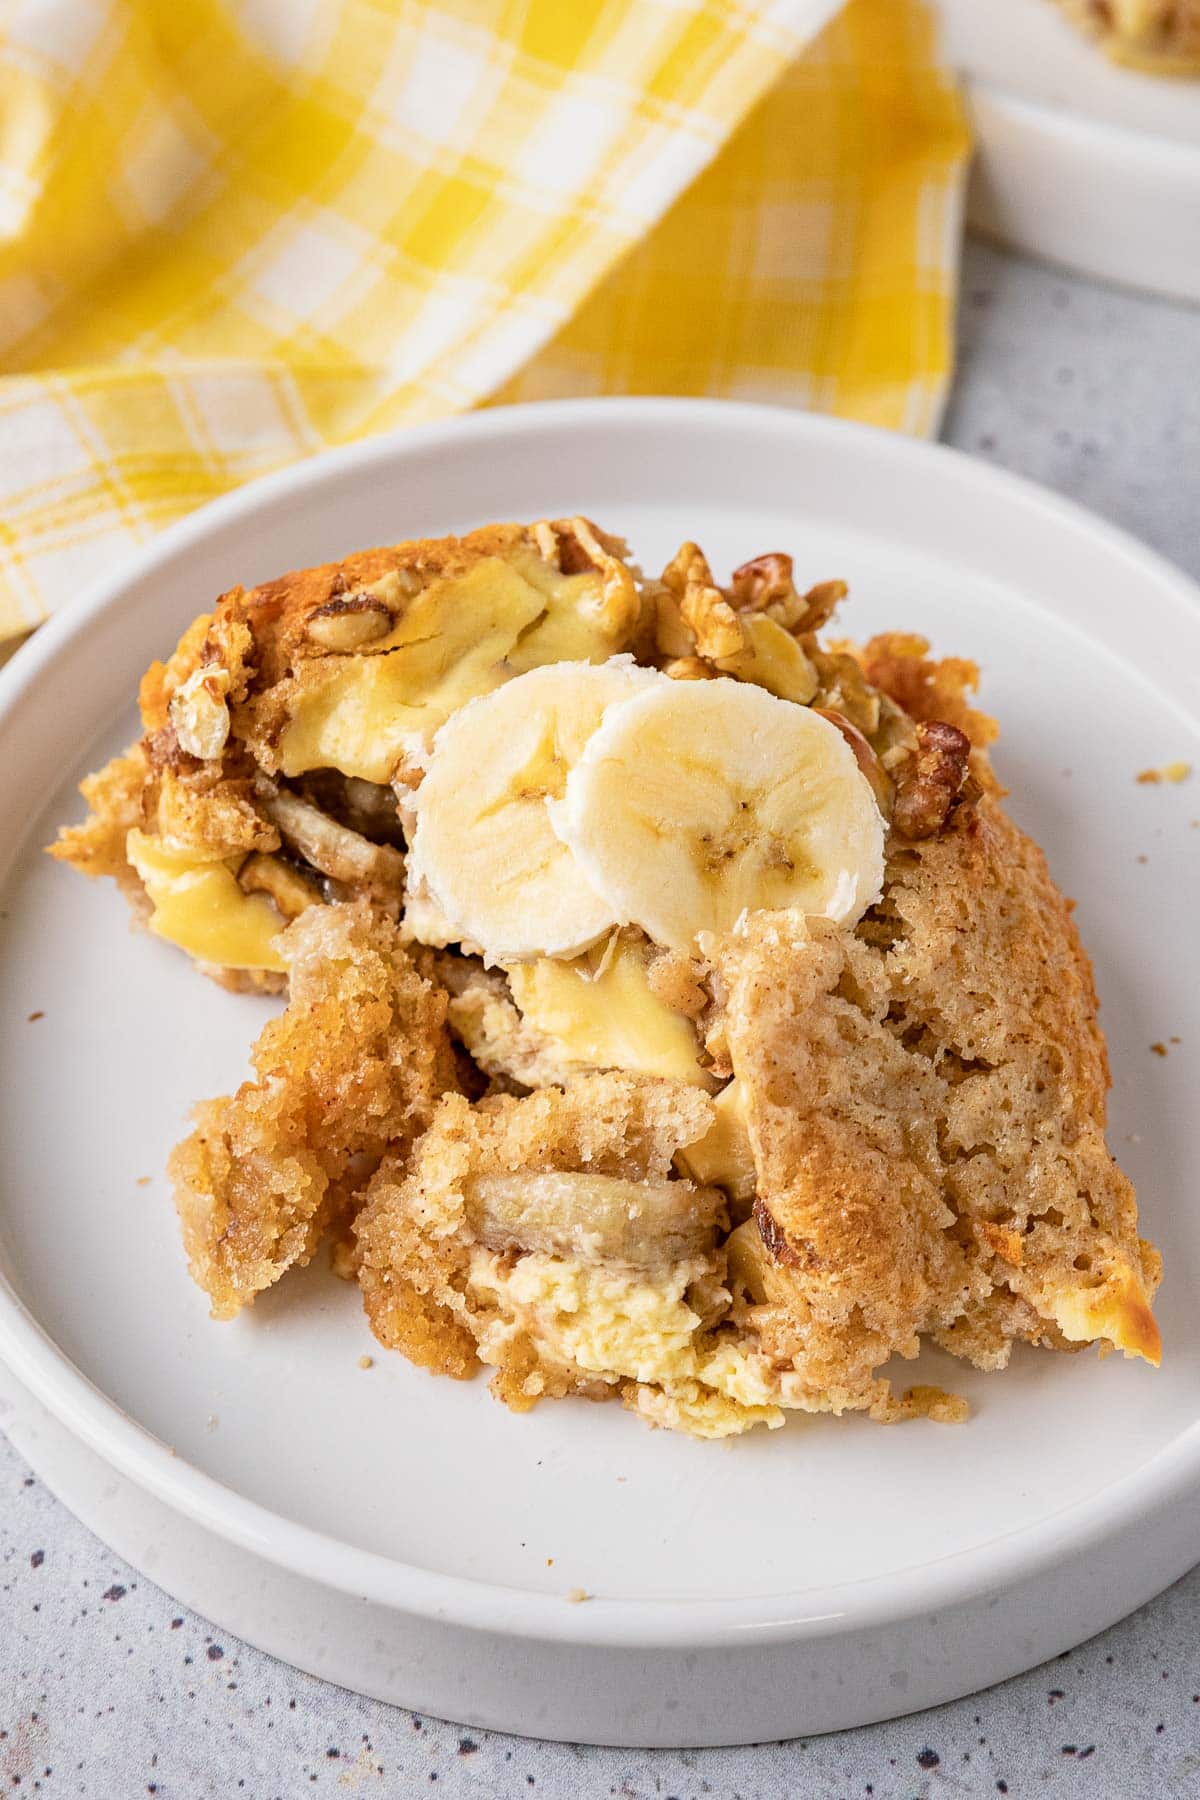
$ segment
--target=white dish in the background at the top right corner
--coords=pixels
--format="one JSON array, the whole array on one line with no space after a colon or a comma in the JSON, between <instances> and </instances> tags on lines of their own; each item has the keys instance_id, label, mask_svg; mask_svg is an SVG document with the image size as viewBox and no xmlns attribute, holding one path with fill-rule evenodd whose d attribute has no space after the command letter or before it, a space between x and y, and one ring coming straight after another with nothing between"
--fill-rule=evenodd
<instances>
[{"instance_id":1,"label":"white dish in the background at the top right corner","mask_svg":"<svg viewBox=\"0 0 1200 1800\"><path fill-rule=\"evenodd\" d=\"M1101 281L1200 301L1200 79L1119 68L1051 0L939 0L979 157L970 221Z\"/></svg>"}]
</instances>

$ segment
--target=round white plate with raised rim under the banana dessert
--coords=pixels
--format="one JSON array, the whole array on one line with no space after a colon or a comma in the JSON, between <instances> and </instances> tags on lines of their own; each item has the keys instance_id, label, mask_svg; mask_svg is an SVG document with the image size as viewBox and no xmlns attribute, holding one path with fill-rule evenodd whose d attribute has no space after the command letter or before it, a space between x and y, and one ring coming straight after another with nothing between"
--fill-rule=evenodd
<instances>
[{"instance_id":1,"label":"round white plate with raised rim under the banana dessert","mask_svg":"<svg viewBox=\"0 0 1200 1800\"><path fill-rule=\"evenodd\" d=\"M1168 1260L1159 1373L1027 1354L988 1377L932 1355L975 1406L961 1429L815 1418L709 1445L617 1406L518 1418L482 1381L425 1375L378 1350L324 1260L250 1316L207 1319L162 1166L189 1105L243 1075L264 1006L131 934L112 886L38 846L77 817L72 781L133 733L146 662L223 587L581 508L648 565L684 535L721 569L788 547L804 580L849 578L849 630L923 630L984 664L1013 808L1078 896L1097 963L1112 1141ZM999 1679L1141 1604L1200 1555L1200 797L1133 774L1200 763L1196 670L1195 589L1128 538L954 452L784 410L484 412L302 464L175 527L0 677L0 1355L16 1440L223 1627L363 1692L542 1735L698 1744L856 1724ZM1150 1053L1173 1037L1168 1060ZM596 1598L572 1606L574 1588Z\"/></svg>"}]
</instances>

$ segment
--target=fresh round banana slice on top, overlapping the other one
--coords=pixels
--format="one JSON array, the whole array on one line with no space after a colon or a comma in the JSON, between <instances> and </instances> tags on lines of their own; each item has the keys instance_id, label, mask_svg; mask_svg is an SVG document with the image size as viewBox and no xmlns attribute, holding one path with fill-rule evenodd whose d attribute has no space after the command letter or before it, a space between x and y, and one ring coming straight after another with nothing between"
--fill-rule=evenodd
<instances>
[{"instance_id":1,"label":"fresh round banana slice on top, overlapping the other one","mask_svg":"<svg viewBox=\"0 0 1200 1800\"><path fill-rule=\"evenodd\" d=\"M745 682L624 700L549 812L612 914L684 952L759 907L853 923L883 886L883 821L842 733Z\"/></svg>"}]
</instances>

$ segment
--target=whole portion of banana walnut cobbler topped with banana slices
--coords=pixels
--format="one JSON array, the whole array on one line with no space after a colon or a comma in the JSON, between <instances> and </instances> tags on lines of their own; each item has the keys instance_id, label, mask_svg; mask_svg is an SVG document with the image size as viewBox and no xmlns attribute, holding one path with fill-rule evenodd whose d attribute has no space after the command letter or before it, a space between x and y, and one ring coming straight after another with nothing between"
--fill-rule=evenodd
<instances>
[{"instance_id":1,"label":"whole portion of banana walnut cobbler topped with banana slices","mask_svg":"<svg viewBox=\"0 0 1200 1800\"><path fill-rule=\"evenodd\" d=\"M923 1341L1159 1361L1070 907L977 671L842 583L588 520L221 596L54 853L286 992L171 1174L230 1318L327 1237L380 1343L515 1409L954 1420Z\"/></svg>"}]
</instances>

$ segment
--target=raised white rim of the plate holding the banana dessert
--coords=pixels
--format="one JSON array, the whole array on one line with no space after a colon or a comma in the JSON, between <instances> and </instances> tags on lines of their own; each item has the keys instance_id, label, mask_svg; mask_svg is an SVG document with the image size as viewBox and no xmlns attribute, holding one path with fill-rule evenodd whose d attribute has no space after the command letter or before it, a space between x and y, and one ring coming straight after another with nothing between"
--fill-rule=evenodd
<instances>
[{"instance_id":1,"label":"raised white rim of the plate holding the banana dessert","mask_svg":"<svg viewBox=\"0 0 1200 1800\"><path fill-rule=\"evenodd\" d=\"M1133 562L1160 589L1164 599L1200 621L1200 585L1142 545L1130 533L1097 518L1087 508L1040 488L1007 470L993 468L946 445L930 445L892 432L788 407L727 400L606 396L495 407L437 419L345 445L291 463L232 490L155 535L115 571L101 576L70 607L47 621L0 670L0 729L25 704L36 704L41 673L59 650L101 614L119 610L122 598L148 574L201 542L210 531L236 526L286 495L302 495L344 472L365 473L378 464L419 459L425 452L462 437L506 439L536 436L563 425L587 432L603 421L617 425L729 425L804 439L837 441L883 461L925 459L966 488L1049 517L1083 533L1114 556ZM43 1406L85 1444L137 1485L182 1512L219 1539L317 1584L353 1597L371 1597L401 1613L435 1618L500 1636L538 1638L574 1645L624 1647L730 1647L799 1642L882 1627L979 1600L999 1586L1036 1575L1067 1555L1087 1552L1119 1535L1139 1517L1177 1505L1200 1490L1200 1420L1159 1449L1148 1463L1081 1501L1047 1514L1033 1526L1002 1534L982 1546L955 1552L909 1570L864 1577L828 1588L806 1588L766 1597L721 1600L631 1600L597 1597L588 1606L567 1606L561 1597L473 1577L419 1568L380 1552L344 1543L246 1499L176 1456L175 1451L124 1413L63 1352L0 1271L0 1355Z\"/></svg>"}]
</instances>

